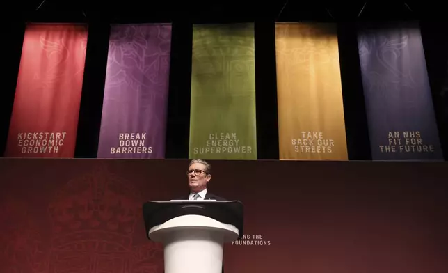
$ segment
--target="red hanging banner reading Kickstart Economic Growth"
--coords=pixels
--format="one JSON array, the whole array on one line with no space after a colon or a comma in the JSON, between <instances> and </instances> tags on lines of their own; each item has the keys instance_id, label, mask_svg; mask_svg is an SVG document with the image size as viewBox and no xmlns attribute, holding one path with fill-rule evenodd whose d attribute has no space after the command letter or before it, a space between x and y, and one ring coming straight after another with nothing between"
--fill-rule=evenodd
<instances>
[{"instance_id":1,"label":"red hanging banner reading Kickstart Economic Growth","mask_svg":"<svg viewBox=\"0 0 448 273\"><path fill-rule=\"evenodd\" d=\"M73 157L87 26L26 26L5 157Z\"/></svg>"}]
</instances>

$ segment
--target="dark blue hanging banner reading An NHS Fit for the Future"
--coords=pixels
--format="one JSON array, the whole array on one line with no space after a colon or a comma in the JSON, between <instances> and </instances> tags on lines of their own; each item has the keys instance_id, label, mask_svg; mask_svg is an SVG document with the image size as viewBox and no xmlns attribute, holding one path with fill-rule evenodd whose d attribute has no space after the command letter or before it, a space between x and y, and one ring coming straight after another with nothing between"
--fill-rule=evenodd
<instances>
[{"instance_id":1,"label":"dark blue hanging banner reading An NHS Fit for the Future","mask_svg":"<svg viewBox=\"0 0 448 273\"><path fill-rule=\"evenodd\" d=\"M442 160L418 24L363 27L358 48L374 160Z\"/></svg>"}]
</instances>

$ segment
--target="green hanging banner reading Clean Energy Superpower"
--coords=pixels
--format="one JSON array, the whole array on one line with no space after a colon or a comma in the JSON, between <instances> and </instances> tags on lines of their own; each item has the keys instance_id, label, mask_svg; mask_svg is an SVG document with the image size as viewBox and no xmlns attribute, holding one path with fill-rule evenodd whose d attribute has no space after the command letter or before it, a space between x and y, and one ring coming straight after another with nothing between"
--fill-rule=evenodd
<instances>
[{"instance_id":1,"label":"green hanging banner reading Clean Energy Superpower","mask_svg":"<svg viewBox=\"0 0 448 273\"><path fill-rule=\"evenodd\" d=\"M257 159L253 24L193 26L189 158Z\"/></svg>"}]
</instances>

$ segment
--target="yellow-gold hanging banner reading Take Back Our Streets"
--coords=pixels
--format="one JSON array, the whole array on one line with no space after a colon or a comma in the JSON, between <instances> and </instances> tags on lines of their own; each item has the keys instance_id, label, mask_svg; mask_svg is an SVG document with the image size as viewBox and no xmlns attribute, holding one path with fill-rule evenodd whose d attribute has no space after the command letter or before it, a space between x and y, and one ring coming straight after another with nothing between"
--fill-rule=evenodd
<instances>
[{"instance_id":1,"label":"yellow-gold hanging banner reading Take Back Our Streets","mask_svg":"<svg viewBox=\"0 0 448 273\"><path fill-rule=\"evenodd\" d=\"M347 160L335 24L275 24L280 159Z\"/></svg>"}]
</instances>

